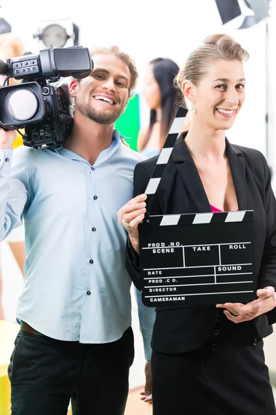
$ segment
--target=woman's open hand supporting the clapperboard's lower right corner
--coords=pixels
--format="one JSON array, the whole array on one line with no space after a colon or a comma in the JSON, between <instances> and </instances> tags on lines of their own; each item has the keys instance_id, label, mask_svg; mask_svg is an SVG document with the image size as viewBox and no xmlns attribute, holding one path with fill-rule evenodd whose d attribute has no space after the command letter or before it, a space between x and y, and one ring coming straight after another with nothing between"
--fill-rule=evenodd
<instances>
[{"instance_id":1,"label":"woman's open hand supporting the clapperboard's lower right corner","mask_svg":"<svg viewBox=\"0 0 276 415\"><path fill-rule=\"evenodd\" d=\"M226 308L224 314L234 323L248 322L258 315L273 310L276 306L276 293L273 287L262 288L257 291L259 298L248 304L225 303L217 304L217 308Z\"/></svg>"}]
</instances>

